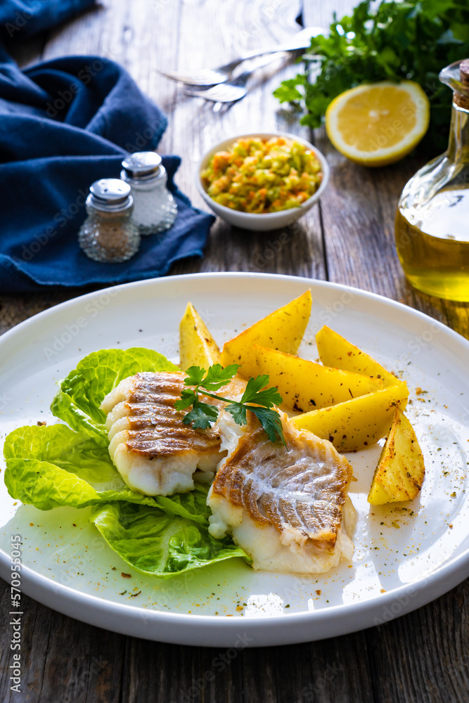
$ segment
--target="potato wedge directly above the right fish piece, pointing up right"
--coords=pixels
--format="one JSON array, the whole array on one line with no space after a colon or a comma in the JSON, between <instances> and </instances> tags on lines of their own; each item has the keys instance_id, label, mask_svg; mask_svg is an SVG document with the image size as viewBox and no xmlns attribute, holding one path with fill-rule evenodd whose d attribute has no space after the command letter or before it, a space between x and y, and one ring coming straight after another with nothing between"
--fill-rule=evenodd
<instances>
[{"instance_id":1,"label":"potato wedge directly above the right fish piece, pointing up right","mask_svg":"<svg viewBox=\"0 0 469 703\"><path fill-rule=\"evenodd\" d=\"M338 451L356 451L375 444L389 432L396 406L405 408L409 392L404 383L375 393L297 415L299 430L329 439Z\"/></svg>"}]
</instances>

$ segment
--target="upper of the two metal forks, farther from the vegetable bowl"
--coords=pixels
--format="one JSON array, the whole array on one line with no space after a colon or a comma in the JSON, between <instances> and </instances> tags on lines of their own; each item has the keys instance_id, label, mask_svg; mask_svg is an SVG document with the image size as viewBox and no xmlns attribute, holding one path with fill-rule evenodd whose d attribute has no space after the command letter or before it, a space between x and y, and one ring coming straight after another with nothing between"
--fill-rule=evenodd
<instances>
[{"instance_id":1,"label":"upper of the two metal forks, farther from the vegetable bowl","mask_svg":"<svg viewBox=\"0 0 469 703\"><path fill-rule=\"evenodd\" d=\"M225 65L217 68L203 68L193 73L162 70L158 70L158 72L172 81L178 81L193 86L210 86L225 83L231 77L231 74L236 66L243 63L243 61L248 60L249 58L255 58L256 56L264 56L264 54L268 53L277 53L278 51L297 51L298 49L307 49L311 43L311 37L317 37L318 34L323 34L325 31L326 30L321 29L321 27L306 27L304 30L301 30L301 32L297 32L297 34L295 34L295 36L289 41L285 41L284 44L271 46L270 49L246 51L238 58L230 61L230 63L226 63Z\"/></svg>"}]
</instances>

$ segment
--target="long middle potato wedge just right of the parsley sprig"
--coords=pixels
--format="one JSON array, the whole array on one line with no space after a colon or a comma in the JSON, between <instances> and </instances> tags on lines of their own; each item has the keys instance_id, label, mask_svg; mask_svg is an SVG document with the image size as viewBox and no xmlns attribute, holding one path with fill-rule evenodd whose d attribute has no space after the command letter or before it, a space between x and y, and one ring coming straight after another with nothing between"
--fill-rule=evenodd
<instances>
[{"instance_id":1,"label":"long middle potato wedge just right of the parsley sprig","mask_svg":"<svg viewBox=\"0 0 469 703\"><path fill-rule=\"evenodd\" d=\"M278 387L285 408L299 413L326 408L383 388L381 379L321 366L259 344L252 347L252 353L257 361L257 374L268 373L269 385Z\"/></svg>"}]
</instances>

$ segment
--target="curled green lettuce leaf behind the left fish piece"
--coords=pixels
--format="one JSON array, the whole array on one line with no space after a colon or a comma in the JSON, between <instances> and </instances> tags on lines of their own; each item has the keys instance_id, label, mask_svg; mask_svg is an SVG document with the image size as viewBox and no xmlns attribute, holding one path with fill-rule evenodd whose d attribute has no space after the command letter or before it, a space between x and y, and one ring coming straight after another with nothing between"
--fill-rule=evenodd
<instances>
[{"instance_id":1,"label":"curled green lettuce leaf behind the left fish piece","mask_svg":"<svg viewBox=\"0 0 469 703\"><path fill-rule=\"evenodd\" d=\"M165 356L153 349L100 349L79 361L60 382L51 404L56 418L73 430L83 430L102 446L108 446L105 413L100 410L104 397L124 378L139 371L179 371Z\"/></svg>"}]
</instances>

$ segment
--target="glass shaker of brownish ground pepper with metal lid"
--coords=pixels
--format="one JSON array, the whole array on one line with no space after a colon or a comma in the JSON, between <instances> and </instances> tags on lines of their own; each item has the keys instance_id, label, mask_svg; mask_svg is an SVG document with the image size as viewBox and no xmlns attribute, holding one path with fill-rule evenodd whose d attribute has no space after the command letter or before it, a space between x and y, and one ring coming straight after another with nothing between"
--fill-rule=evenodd
<instances>
[{"instance_id":1,"label":"glass shaker of brownish ground pepper with metal lid","mask_svg":"<svg viewBox=\"0 0 469 703\"><path fill-rule=\"evenodd\" d=\"M131 218L134 203L129 184L104 178L95 181L89 191L88 217L78 233L80 247L95 262L127 261L140 246L139 229Z\"/></svg>"}]
</instances>

